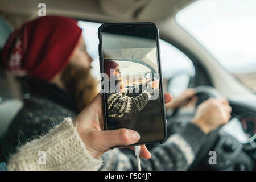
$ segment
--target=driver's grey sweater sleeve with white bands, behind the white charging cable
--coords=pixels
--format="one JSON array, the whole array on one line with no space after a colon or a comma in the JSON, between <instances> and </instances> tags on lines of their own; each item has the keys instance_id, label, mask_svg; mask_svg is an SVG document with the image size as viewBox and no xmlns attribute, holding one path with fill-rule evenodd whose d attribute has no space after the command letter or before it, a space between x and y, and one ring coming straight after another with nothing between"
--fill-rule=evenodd
<instances>
[{"instance_id":1,"label":"driver's grey sweater sleeve with white bands, behind the white charging cable","mask_svg":"<svg viewBox=\"0 0 256 182\"><path fill-rule=\"evenodd\" d=\"M188 123L180 133L171 135L164 144L151 151L151 159L142 159L142 170L186 170L191 165L205 140L199 127ZM118 148L102 156L101 170L137 170L133 154L124 154Z\"/></svg>"}]
</instances>

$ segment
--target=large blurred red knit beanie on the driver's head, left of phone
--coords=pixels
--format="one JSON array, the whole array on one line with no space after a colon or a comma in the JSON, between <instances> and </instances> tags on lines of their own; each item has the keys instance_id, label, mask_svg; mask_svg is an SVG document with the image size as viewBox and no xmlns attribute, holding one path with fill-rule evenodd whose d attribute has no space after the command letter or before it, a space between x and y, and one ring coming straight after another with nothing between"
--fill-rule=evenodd
<instances>
[{"instance_id":1,"label":"large blurred red knit beanie on the driver's head, left of phone","mask_svg":"<svg viewBox=\"0 0 256 182\"><path fill-rule=\"evenodd\" d=\"M10 72L51 80L67 65L81 35L77 21L46 16L24 23L3 48L3 61Z\"/></svg>"}]
</instances>

